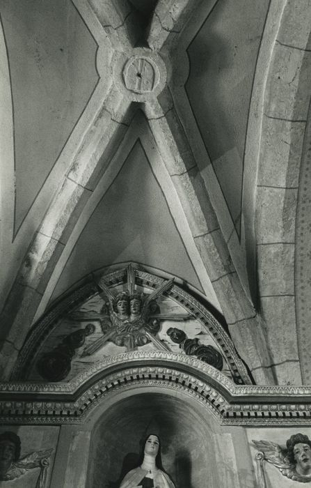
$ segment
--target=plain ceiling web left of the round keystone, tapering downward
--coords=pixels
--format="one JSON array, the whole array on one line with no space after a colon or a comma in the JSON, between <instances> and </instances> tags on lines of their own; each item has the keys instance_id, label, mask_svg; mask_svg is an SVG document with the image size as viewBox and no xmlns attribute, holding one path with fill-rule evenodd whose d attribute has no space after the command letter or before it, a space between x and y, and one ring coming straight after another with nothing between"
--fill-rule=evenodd
<instances>
[{"instance_id":1,"label":"plain ceiling web left of the round keystone, tapering downward","mask_svg":"<svg viewBox=\"0 0 311 488\"><path fill-rule=\"evenodd\" d=\"M97 44L69 0L1 3L13 91L15 234L97 84Z\"/></svg>"}]
</instances>

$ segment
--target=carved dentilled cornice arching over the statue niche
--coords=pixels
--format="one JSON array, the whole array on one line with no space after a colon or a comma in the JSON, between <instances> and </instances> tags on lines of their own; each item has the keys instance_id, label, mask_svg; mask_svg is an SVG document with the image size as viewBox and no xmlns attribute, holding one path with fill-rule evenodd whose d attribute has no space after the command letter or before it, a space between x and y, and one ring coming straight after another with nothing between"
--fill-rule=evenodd
<instances>
[{"instance_id":1,"label":"carved dentilled cornice arching over the statue niche","mask_svg":"<svg viewBox=\"0 0 311 488\"><path fill-rule=\"evenodd\" d=\"M196 400L221 425L311 421L310 387L239 386L196 358L141 351L106 358L70 383L0 383L0 422L79 424L106 399L146 387Z\"/></svg>"}]
</instances>

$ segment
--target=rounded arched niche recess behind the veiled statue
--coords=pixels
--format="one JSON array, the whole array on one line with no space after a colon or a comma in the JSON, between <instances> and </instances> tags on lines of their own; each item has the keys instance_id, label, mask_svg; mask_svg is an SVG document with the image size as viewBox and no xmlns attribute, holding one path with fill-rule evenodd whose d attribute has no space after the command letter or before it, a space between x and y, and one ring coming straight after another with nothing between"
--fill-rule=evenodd
<instances>
[{"instance_id":1,"label":"rounded arched niche recess behind the veiled statue","mask_svg":"<svg viewBox=\"0 0 311 488\"><path fill-rule=\"evenodd\" d=\"M220 486L217 453L223 446L216 420L185 395L161 388L144 388L118 399L98 418L90 437L86 486L116 482L111 487L118 487L126 472L122 474L122 464L129 454L138 455L146 429L159 434L164 468L178 488ZM227 449L232 457L230 445Z\"/></svg>"}]
</instances>

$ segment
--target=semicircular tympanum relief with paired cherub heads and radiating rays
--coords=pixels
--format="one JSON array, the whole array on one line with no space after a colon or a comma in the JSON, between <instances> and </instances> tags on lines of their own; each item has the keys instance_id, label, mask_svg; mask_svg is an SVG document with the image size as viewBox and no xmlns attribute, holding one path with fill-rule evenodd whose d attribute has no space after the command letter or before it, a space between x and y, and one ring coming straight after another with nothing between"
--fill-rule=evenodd
<instances>
[{"instance_id":1,"label":"semicircular tympanum relief with paired cherub heads and radiating rays","mask_svg":"<svg viewBox=\"0 0 311 488\"><path fill-rule=\"evenodd\" d=\"M107 356L143 350L194 356L232 377L214 335L183 298L175 298L174 286L173 280L158 280L147 287L131 265L121 283L108 286L106 277L100 278L97 292L54 319L26 379L70 381Z\"/></svg>"}]
</instances>

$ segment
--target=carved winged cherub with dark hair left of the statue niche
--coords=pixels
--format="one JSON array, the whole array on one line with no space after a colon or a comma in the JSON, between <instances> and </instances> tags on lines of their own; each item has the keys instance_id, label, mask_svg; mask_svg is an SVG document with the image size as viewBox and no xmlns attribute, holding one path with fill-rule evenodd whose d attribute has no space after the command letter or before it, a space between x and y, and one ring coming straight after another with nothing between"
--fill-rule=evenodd
<instances>
[{"instance_id":1,"label":"carved winged cherub with dark hair left of the statue niche","mask_svg":"<svg viewBox=\"0 0 311 488\"><path fill-rule=\"evenodd\" d=\"M20 451L21 441L15 432L8 431L0 434L0 480L15 480L15 478L19 478L30 469L40 468L36 488L43 488L46 468L49 464L48 458L52 449L29 452L29 454L19 459Z\"/></svg>"}]
</instances>

